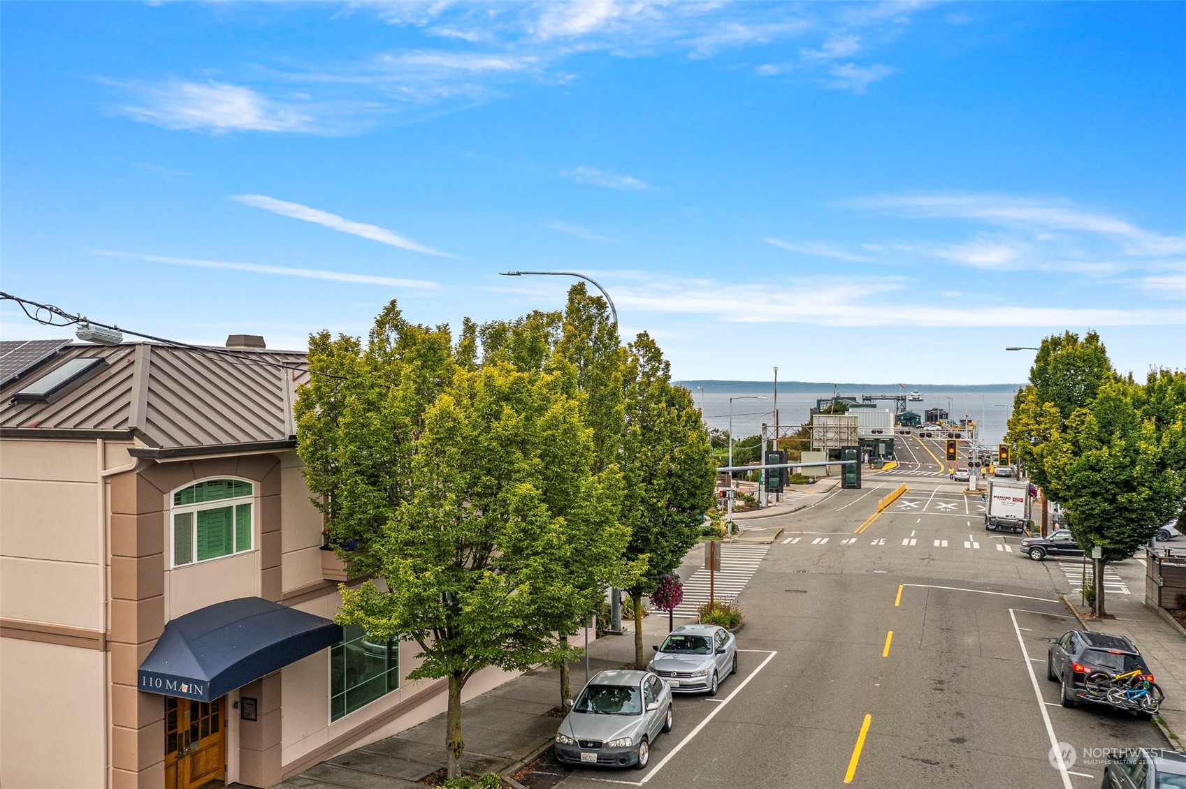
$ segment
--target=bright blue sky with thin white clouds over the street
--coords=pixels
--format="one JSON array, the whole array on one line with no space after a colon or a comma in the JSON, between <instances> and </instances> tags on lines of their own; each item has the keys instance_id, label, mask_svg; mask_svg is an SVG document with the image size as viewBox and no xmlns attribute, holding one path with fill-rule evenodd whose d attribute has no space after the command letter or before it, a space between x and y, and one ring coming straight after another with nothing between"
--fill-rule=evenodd
<instances>
[{"instance_id":1,"label":"bright blue sky with thin white clouds over the street","mask_svg":"<svg viewBox=\"0 0 1186 789\"><path fill-rule=\"evenodd\" d=\"M2 289L171 339L563 303L676 378L1186 367L1186 4L5 2ZM64 336L0 304L5 339Z\"/></svg>"}]
</instances>

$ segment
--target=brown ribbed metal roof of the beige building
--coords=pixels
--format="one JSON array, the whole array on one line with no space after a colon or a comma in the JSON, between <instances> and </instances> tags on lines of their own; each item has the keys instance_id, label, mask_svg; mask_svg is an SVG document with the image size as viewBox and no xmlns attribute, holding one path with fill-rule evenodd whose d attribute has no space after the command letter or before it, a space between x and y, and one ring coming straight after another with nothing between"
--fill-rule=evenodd
<instances>
[{"instance_id":1,"label":"brown ribbed metal roof of the beige building","mask_svg":"<svg viewBox=\"0 0 1186 789\"><path fill-rule=\"evenodd\" d=\"M0 358L11 345L19 344L0 342ZM104 359L107 367L47 403L12 399L34 374L82 358ZM68 345L34 374L0 386L0 430L122 431L160 450L287 442L296 432L296 386L308 373L272 365L304 363L305 354L294 351Z\"/></svg>"}]
</instances>

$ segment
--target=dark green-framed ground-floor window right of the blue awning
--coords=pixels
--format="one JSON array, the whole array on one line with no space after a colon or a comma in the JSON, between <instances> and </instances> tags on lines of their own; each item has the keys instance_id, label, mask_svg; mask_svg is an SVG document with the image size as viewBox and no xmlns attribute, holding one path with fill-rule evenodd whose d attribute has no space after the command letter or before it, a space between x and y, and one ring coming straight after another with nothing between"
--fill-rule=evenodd
<instances>
[{"instance_id":1,"label":"dark green-framed ground-floor window right of the blue awning","mask_svg":"<svg viewBox=\"0 0 1186 789\"><path fill-rule=\"evenodd\" d=\"M400 687L398 641L371 641L358 626L330 647L330 720L343 718Z\"/></svg>"}]
</instances>

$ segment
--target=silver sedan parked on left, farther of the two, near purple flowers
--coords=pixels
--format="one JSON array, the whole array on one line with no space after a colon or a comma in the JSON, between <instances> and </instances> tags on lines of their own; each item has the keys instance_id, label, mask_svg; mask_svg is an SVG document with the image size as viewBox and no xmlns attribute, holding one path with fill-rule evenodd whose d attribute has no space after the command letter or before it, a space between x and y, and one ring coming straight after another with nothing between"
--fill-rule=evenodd
<instances>
[{"instance_id":1,"label":"silver sedan parked on left, farther of the two, near purple flowers","mask_svg":"<svg viewBox=\"0 0 1186 789\"><path fill-rule=\"evenodd\" d=\"M721 678L738 671L738 643L715 624L681 624L655 649L648 668L677 693L716 695Z\"/></svg>"}]
</instances>

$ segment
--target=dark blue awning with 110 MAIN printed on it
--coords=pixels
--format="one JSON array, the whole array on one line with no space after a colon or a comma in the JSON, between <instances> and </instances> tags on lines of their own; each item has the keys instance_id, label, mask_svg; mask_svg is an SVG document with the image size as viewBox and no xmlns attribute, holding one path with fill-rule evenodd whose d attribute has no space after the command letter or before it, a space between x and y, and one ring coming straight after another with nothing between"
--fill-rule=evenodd
<instances>
[{"instance_id":1,"label":"dark blue awning with 110 MAIN printed on it","mask_svg":"<svg viewBox=\"0 0 1186 789\"><path fill-rule=\"evenodd\" d=\"M166 623L136 685L146 693L212 701L339 641L342 628L330 620L241 597Z\"/></svg>"}]
</instances>

